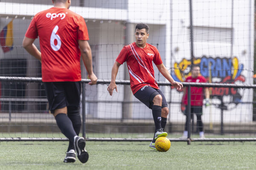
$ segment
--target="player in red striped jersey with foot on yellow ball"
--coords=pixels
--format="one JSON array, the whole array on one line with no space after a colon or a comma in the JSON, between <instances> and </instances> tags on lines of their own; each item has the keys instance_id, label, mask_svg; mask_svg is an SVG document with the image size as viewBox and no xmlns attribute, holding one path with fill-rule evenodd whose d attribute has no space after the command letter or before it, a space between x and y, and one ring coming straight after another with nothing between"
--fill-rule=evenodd
<instances>
[{"instance_id":1,"label":"player in red striped jersey with foot on yellow ball","mask_svg":"<svg viewBox=\"0 0 256 170\"><path fill-rule=\"evenodd\" d=\"M147 43L149 36L148 29L146 24L137 24L135 28L136 42L124 46L113 64L108 92L111 96L114 89L116 89L117 92L115 83L116 75L119 66L126 62L130 73L131 91L137 99L143 102L148 108L152 109L155 131L154 138L149 148L156 150L154 145L155 140L160 136L167 136L167 133L163 130L166 126L169 109L165 96L160 91L157 81L155 80L152 62L154 62L160 73L163 74L175 88L180 90L183 85L174 81L169 74L169 71L163 65L157 48Z\"/></svg>"}]
</instances>

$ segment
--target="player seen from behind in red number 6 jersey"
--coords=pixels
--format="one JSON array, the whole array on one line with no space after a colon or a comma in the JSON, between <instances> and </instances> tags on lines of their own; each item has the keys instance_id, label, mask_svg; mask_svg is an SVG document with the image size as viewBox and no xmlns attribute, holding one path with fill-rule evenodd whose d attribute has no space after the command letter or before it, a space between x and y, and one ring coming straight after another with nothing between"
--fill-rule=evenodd
<instances>
[{"instance_id":1,"label":"player seen from behind in red number 6 jersey","mask_svg":"<svg viewBox=\"0 0 256 170\"><path fill-rule=\"evenodd\" d=\"M78 159L85 163L88 153L85 140L79 137L81 117L80 56L91 82L96 84L88 31L84 18L70 11L71 0L52 0L54 7L41 11L32 19L26 31L23 47L42 63L42 81L47 93L49 110L61 132L69 139L64 162ZM40 49L33 44L39 37Z\"/></svg>"}]
</instances>

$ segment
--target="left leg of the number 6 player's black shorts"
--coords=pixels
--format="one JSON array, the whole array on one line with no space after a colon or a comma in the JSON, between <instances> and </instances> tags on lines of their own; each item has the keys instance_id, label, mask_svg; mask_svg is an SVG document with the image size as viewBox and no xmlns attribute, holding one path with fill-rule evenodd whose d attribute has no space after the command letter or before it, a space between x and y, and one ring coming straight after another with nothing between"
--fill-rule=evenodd
<instances>
[{"instance_id":1,"label":"left leg of the number 6 player's black shorts","mask_svg":"<svg viewBox=\"0 0 256 170\"><path fill-rule=\"evenodd\" d=\"M44 88L47 94L49 110L51 113L54 113L56 109L67 106L63 82L44 82Z\"/></svg>"}]
</instances>

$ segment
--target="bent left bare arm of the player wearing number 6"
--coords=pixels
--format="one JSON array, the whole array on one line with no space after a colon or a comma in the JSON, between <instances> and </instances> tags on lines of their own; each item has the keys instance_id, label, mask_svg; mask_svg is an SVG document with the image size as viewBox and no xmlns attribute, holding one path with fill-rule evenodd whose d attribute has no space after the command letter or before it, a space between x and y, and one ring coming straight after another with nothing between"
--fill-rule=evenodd
<instances>
[{"instance_id":1,"label":"bent left bare arm of the player wearing number 6","mask_svg":"<svg viewBox=\"0 0 256 170\"><path fill-rule=\"evenodd\" d=\"M35 44L33 43L35 39L31 39L28 37L24 37L22 46L25 48L26 51L35 58L39 59L41 61L41 52L36 48Z\"/></svg>"}]
</instances>

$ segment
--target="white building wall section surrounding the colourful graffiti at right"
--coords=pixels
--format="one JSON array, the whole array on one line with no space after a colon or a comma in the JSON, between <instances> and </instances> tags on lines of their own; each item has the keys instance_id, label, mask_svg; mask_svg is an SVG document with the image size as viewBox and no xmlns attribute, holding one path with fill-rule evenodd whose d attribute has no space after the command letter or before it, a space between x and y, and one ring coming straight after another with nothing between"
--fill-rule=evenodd
<instances>
[{"instance_id":1,"label":"white building wall section surrounding the colourful graffiti at right","mask_svg":"<svg viewBox=\"0 0 256 170\"><path fill-rule=\"evenodd\" d=\"M232 26L232 2L233 2L233 26ZM254 2L250 0L197 0L193 1L193 26L209 27L211 28L227 28L233 27L233 50L232 43L229 41L228 34L221 35L220 32L215 31L214 37L209 37L209 40L204 40L204 32L194 36L194 56L197 57L220 57L233 58L237 57L239 65L243 65L244 69L241 75L245 77L245 82L237 81L235 83L253 84L253 8ZM180 11L181 8L188 9L189 3L186 0L173 1L173 32L172 32L172 46L173 50L178 48L173 54L173 62L180 62L185 58L190 60L190 20L189 10L186 12ZM195 33L195 28L194 28ZM225 37L227 36L227 37ZM200 38L202 41L200 41ZM215 38L215 40L211 39ZM197 40L195 40L197 39ZM235 74L232 70L232 75ZM212 78L212 82L218 82L220 78ZM178 102L182 95L177 91L172 91L173 98ZM242 95L241 102L251 102L253 99L253 91L240 90ZM224 102L231 102L230 96L224 96ZM219 99L212 99L213 103L220 103ZM228 110L224 111L224 122L247 122L252 121L252 105L248 104L227 104ZM179 108L178 105L173 104L171 108ZM172 111L171 111L172 112ZM171 119L185 121L185 116L182 115L180 109L178 112L171 115ZM220 122L221 110L216 106L204 108L204 122ZM211 118L210 118L211 117Z\"/></svg>"}]
</instances>

